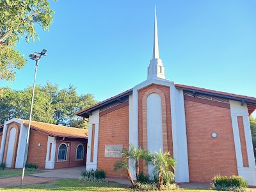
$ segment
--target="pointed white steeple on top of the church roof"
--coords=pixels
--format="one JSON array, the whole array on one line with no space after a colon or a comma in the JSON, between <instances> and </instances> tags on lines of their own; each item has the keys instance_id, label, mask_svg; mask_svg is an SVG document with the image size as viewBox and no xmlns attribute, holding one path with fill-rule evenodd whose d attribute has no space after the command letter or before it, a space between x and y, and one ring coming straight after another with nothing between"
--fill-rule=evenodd
<instances>
[{"instance_id":1,"label":"pointed white steeple on top of the church roof","mask_svg":"<svg viewBox=\"0 0 256 192\"><path fill-rule=\"evenodd\" d=\"M148 66L148 77L147 77L147 79L153 79L155 77L165 79L164 66L163 66L162 60L159 59L156 5L155 5L155 27L154 27L153 58L150 61L150 64Z\"/></svg>"}]
</instances>

